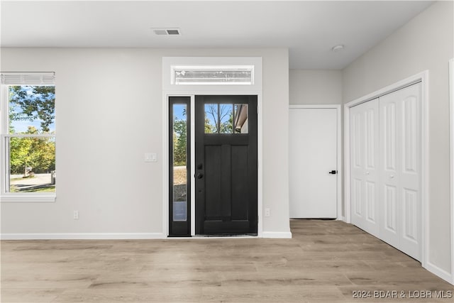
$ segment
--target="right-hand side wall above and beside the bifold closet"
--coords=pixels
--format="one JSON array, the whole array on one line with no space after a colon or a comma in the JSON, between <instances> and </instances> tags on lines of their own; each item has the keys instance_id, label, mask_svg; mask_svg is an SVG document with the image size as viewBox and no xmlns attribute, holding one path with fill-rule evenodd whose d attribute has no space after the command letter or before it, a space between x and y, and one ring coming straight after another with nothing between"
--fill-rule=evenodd
<instances>
[{"instance_id":1,"label":"right-hand side wall above and beside the bifold closet","mask_svg":"<svg viewBox=\"0 0 454 303\"><path fill-rule=\"evenodd\" d=\"M450 273L448 60L454 57L453 1L436 2L343 70L343 101L429 71L429 265Z\"/></svg>"}]
</instances>

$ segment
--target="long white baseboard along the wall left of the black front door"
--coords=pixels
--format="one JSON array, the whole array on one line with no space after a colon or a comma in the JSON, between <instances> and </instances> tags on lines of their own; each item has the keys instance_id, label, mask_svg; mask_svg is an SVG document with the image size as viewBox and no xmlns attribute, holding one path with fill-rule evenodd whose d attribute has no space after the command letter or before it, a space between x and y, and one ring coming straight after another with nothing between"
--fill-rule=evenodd
<instances>
[{"instance_id":1,"label":"long white baseboard along the wall left of the black front door","mask_svg":"<svg viewBox=\"0 0 454 303\"><path fill-rule=\"evenodd\" d=\"M1 233L1 240L138 240L167 238L162 233Z\"/></svg>"}]
</instances>

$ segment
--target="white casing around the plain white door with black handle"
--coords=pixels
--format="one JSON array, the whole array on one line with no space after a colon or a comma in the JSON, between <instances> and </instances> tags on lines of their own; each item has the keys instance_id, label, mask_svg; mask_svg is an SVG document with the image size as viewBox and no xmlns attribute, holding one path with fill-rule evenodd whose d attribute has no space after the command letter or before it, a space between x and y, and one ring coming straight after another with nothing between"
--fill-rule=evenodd
<instances>
[{"instance_id":1,"label":"white casing around the plain white door with black handle","mask_svg":"<svg viewBox=\"0 0 454 303\"><path fill-rule=\"evenodd\" d=\"M342 141L341 141L341 104L292 104L289 109L336 109L337 111L337 170L338 170L338 182L337 182L337 220L343 220L342 214ZM292 165L292 163L289 163Z\"/></svg>"}]
</instances>

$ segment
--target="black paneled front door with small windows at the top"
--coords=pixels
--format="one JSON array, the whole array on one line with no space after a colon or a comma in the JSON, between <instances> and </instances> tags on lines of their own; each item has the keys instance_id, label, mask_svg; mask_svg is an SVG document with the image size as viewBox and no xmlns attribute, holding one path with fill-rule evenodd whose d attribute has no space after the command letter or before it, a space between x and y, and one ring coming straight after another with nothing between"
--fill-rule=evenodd
<instances>
[{"instance_id":1,"label":"black paneled front door with small windows at the top","mask_svg":"<svg viewBox=\"0 0 454 303\"><path fill-rule=\"evenodd\" d=\"M257 96L196 96L196 234L257 234Z\"/></svg>"}]
</instances>

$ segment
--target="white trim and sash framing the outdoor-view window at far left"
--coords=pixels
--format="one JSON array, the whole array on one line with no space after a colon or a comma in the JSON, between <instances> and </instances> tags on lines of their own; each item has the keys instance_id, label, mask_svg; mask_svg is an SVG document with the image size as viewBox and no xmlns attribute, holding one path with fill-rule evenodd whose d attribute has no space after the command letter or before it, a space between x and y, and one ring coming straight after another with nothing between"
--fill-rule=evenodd
<instances>
[{"instance_id":1,"label":"white trim and sash framing the outdoor-view window at far left","mask_svg":"<svg viewBox=\"0 0 454 303\"><path fill-rule=\"evenodd\" d=\"M3 75L40 75L42 77L45 77L46 79L49 77L53 77L55 75L54 72L11 72L11 73L1 73L2 77ZM1 157L0 157L0 172L1 172L1 177L0 177L0 202L1 203L8 203L8 202L55 202L57 198L57 192L35 192L35 193L11 193L11 192L6 192L6 174L8 173L6 171L6 153L5 151L5 140L6 138L9 137L54 137L55 135L22 135L22 134L9 134L8 133L8 119L3 119L5 115L8 113L8 87L14 85L12 83L7 83L3 84L1 83L1 96L0 96L0 120L1 120L1 125L0 125L0 150L1 150ZM40 83L18 83L16 85L54 85L49 82L43 82L42 84ZM5 114L6 113L6 114Z\"/></svg>"}]
</instances>

